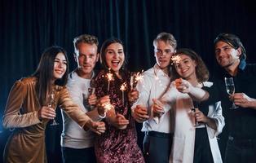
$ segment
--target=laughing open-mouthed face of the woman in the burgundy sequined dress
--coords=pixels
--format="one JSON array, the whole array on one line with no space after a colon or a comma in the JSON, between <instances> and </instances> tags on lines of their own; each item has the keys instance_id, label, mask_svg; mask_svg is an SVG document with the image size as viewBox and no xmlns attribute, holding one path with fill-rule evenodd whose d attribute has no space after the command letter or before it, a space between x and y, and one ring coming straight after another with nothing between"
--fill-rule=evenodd
<instances>
[{"instance_id":1,"label":"laughing open-mouthed face of the woman in the burgundy sequined dress","mask_svg":"<svg viewBox=\"0 0 256 163\"><path fill-rule=\"evenodd\" d=\"M125 61L123 46L120 43L110 44L106 48L105 59L108 68L111 68L115 73L119 73L121 65Z\"/></svg>"}]
</instances>

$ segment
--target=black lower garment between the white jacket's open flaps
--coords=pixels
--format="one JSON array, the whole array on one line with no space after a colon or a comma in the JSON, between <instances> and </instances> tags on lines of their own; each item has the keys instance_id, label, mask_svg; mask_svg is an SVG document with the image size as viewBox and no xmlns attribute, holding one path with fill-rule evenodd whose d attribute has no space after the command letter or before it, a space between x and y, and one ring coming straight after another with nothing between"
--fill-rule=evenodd
<instances>
[{"instance_id":1,"label":"black lower garment between the white jacket's open flaps","mask_svg":"<svg viewBox=\"0 0 256 163\"><path fill-rule=\"evenodd\" d=\"M206 128L196 128L194 163L214 163Z\"/></svg>"}]
</instances>

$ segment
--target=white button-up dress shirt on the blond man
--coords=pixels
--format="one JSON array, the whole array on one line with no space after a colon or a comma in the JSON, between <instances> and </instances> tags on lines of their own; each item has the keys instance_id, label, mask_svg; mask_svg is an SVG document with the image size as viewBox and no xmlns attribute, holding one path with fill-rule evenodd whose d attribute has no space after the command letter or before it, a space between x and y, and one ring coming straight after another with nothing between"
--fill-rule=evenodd
<instances>
[{"instance_id":1,"label":"white button-up dress shirt on the blond man","mask_svg":"<svg viewBox=\"0 0 256 163\"><path fill-rule=\"evenodd\" d=\"M139 99L132 105L132 109L140 104L148 108L148 115L150 118L143 122L142 131L157 131L161 133L173 133L173 123L171 122L170 105L165 105L164 114L160 121L155 121L152 118L153 104L152 99L161 99L165 103L164 92L169 89L170 77L164 73L157 64L143 73L143 80L139 81L136 89L139 91ZM168 87L168 88L167 88Z\"/></svg>"}]
</instances>

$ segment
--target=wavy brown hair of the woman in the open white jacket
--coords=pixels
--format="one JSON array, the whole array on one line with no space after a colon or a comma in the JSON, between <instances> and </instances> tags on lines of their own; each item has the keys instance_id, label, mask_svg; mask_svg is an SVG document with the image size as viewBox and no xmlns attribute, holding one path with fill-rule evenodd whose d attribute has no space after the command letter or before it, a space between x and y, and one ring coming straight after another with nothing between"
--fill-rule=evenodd
<instances>
[{"instance_id":1,"label":"wavy brown hair of the woman in the open white jacket","mask_svg":"<svg viewBox=\"0 0 256 163\"><path fill-rule=\"evenodd\" d=\"M196 61L196 78L199 82L208 81L209 79L209 71L205 66L204 61L201 59L199 55L196 54L195 51L192 51L188 48L181 48L176 51L174 55L187 55L192 60ZM174 64L172 64L172 77L173 79L179 78L179 74L177 73L176 69L174 68Z\"/></svg>"}]
</instances>

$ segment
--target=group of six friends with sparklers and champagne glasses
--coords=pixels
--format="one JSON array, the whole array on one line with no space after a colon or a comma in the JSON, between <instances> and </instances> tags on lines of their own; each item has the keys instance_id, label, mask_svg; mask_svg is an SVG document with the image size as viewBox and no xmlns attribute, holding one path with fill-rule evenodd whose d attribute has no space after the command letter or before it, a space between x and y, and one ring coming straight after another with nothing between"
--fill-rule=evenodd
<instances>
[{"instance_id":1,"label":"group of six friends with sparklers and champagne glasses","mask_svg":"<svg viewBox=\"0 0 256 163\"><path fill-rule=\"evenodd\" d=\"M131 73L124 45L109 38L98 53L97 37L75 37L77 68L68 73L60 46L43 53L30 77L15 81L2 125L13 129L4 162L46 162L46 124L61 108L63 162L236 163L256 161L256 64L231 33L214 40L219 72L214 81L200 55L178 48L171 33L153 41L156 64ZM102 69L95 70L100 60ZM140 75L141 80L134 77ZM227 94L224 77L236 93ZM121 89L121 87L123 89ZM232 104L236 108L230 109ZM143 149L135 121L143 123ZM225 126L226 122L226 126ZM217 136L227 130L227 142ZM226 139L224 139L226 140ZM221 156L218 143L227 143Z\"/></svg>"}]
</instances>

